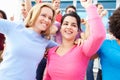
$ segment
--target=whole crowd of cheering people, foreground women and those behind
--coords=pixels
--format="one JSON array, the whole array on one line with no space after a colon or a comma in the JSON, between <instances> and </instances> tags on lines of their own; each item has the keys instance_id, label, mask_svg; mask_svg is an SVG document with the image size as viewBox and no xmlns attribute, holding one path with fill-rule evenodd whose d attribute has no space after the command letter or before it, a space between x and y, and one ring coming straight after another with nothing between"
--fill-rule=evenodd
<instances>
[{"instance_id":1,"label":"whole crowd of cheering people, foreground women and those behind","mask_svg":"<svg viewBox=\"0 0 120 80\"><path fill-rule=\"evenodd\" d=\"M83 19L73 5L62 14L60 0L35 2L22 2L19 22L0 10L1 80L94 80L96 58L96 80L120 80L120 7L106 19L102 4L80 0Z\"/></svg>"}]
</instances>

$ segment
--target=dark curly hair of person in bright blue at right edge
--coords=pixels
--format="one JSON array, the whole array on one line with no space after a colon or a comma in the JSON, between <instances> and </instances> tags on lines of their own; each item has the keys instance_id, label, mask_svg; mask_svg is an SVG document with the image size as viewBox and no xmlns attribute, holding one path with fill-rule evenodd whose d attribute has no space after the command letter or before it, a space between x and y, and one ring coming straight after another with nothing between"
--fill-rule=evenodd
<instances>
[{"instance_id":1,"label":"dark curly hair of person in bright blue at right edge","mask_svg":"<svg viewBox=\"0 0 120 80\"><path fill-rule=\"evenodd\" d=\"M117 39L120 39L120 7L118 7L109 18L109 31Z\"/></svg>"}]
</instances>

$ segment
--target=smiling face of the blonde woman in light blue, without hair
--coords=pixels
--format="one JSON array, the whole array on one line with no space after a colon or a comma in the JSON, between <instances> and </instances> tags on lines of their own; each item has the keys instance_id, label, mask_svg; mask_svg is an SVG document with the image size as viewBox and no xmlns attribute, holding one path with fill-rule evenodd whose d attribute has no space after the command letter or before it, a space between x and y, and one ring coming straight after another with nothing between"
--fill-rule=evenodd
<instances>
[{"instance_id":1,"label":"smiling face of the blonde woman in light blue, without hair","mask_svg":"<svg viewBox=\"0 0 120 80\"><path fill-rule=\"evenodd\" d=\"M33 26L34 30L38 33L46 31L50 28L53 20L53 11L49 7L41 8L41 12L36 19Z\"/></svg>"}]
</instances>

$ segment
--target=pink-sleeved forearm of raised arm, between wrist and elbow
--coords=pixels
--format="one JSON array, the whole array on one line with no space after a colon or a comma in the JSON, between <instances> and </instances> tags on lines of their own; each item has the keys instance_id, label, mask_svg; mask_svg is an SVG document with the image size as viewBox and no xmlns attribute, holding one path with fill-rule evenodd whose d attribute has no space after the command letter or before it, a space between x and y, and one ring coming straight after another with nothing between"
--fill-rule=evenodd
<instances>
[{"instance_id":1,"label":"pink-sleeved forearm of raised arm, between wrist and elbow","mask_svg":"<svg viewBox=\"0 0 120 80\"><path fill-rule=\"evenodd\" d=\"M97 8L93 5L90 5L87 9L88 14L88 24L90 26L90 35L94 39L96 38L105 38L105 28L102 22L102 18L97 13Z\"/></svg>"}]
</instances>

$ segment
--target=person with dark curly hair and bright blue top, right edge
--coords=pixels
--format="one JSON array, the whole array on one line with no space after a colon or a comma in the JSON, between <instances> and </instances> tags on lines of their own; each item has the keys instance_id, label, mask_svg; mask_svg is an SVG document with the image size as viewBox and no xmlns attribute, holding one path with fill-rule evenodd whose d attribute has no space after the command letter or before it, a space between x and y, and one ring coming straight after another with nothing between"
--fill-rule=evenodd
<instances>
[{"instance_id":1,"label":"person with dark curly hair and bright blue top, right edge","mask_svg":"<svg viewBox=\"0 0 120 80\"><path fill-rule=\"evenodd\" d=\"M102 80L120 80L120 7L109 18L109 31L116 39L105 40L98 51Z\"/></svg>"}]
</instances>

